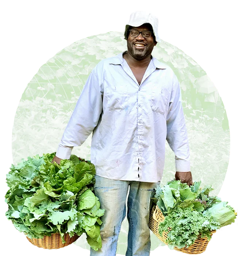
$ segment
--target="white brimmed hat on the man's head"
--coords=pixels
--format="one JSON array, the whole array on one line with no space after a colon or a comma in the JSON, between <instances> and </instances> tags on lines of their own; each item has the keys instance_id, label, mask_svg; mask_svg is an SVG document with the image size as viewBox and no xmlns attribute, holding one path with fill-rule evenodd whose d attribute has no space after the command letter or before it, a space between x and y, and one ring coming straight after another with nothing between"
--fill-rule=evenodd
<instances>
[{"instance_id":1,"label":"white brimmed hat on the man's head","mask_svg":"<svg viewBox=\"0 0 241 256\"><path fill-rule=\"evenodd\" d=\"M158 18L153 14L145 11L136 11L130 15L129 20L127 21L124 29L124 38L127 39L127 32L128 32L129 26L139 27L145 23L150 23L150 25L152 26L156 41L161 42L161 38L159 37L159 34L158 34L158 25L159 25Z\"/></svg>"}]
</instances>

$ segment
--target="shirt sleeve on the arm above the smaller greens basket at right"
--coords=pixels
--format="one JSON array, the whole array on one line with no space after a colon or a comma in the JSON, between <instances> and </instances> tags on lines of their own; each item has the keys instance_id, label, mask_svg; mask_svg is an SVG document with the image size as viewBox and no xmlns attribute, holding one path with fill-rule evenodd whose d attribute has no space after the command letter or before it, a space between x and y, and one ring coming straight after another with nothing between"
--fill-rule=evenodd
<instances>
[{"instance_id":1,"label":"shirt sleeve on the arm above the smaller greens basket at right","mask_svg":"<svg viewBox=\"0 0 241 256\"><path fill-rule=\"evenodd\" d=\"M181 105L181 89L173 74L173 84L167 114L167 142L175 153L176 172L190 172L187 129Z\"/></svg>"}]
</instances>

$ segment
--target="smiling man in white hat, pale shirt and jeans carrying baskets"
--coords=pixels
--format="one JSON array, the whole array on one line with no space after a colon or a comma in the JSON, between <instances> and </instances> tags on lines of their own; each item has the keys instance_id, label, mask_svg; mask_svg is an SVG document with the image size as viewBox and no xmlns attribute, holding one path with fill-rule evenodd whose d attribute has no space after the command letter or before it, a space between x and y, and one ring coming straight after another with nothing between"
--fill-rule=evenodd
<instances>
[{"instance_id":1,"label":"smiling man in white hat, pale shirt and jeans carrying baskets","mask_svg":"<svg viewBox=\"0 0 241 256\"><path fill-rule=\"evenodd\" d=\"M53 159L69 159L93 131L94 190L106 211L102 248L91 249L91 256L116 254L129 187L126 256L149 255L150 194L162 177L166 139L176 155L176 179L192 184L179 83L171 68L151 56L161 42L158 19L133 13L125 39L127 52L100 61L89 75Z\"/></svg>"}]
</instances>

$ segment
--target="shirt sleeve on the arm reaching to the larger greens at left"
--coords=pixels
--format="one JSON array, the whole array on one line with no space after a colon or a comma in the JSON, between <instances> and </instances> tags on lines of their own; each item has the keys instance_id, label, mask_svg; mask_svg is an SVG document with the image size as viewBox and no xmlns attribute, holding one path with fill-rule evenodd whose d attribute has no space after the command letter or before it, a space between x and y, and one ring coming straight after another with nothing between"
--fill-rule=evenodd
<instances>
[{"instance_id":1,"label":"shirt sleeve on the arm reaching to the larger greens at left","mask_svg":"<svg viewBox=\"0 0 241 256\"><path fill-rule=\"evenodd\" d=\"M102 111L102 90L93 69L65 128L56 156L69 159L73 147L81 146L96 127Z\"/></svg>"}]
</instances>

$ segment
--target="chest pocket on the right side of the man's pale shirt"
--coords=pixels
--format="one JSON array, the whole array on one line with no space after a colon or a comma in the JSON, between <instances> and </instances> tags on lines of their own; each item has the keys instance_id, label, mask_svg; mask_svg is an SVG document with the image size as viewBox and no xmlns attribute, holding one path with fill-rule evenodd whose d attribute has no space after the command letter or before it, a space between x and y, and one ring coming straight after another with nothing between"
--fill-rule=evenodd
<instances>
[{"instance_id":1,"label":"chest pocket on the right side of the man's pale shirt","mask_svg":"<svg viewBox=\"0 0 241 256\"><path fill-rule=\"evenodd\" d=\"M168 102L168 89L164 86L152 86L151 108L160 114L164 114Z\"/></svg>"}]
</instances>

